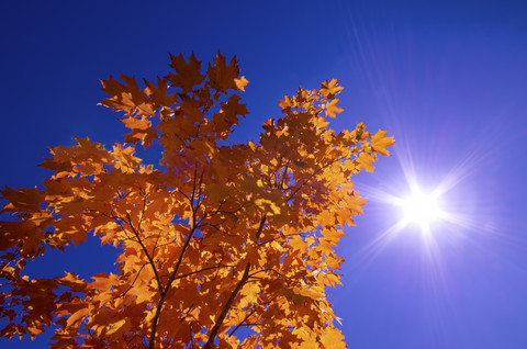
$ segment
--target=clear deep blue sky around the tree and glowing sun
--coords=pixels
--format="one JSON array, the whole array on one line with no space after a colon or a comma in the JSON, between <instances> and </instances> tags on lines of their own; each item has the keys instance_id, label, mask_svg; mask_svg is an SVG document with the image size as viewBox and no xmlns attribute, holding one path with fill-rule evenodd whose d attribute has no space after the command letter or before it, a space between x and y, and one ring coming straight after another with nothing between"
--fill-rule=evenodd
<instances>
[{"instance_id":1,"label":"clear deep blue sky around the tree and glowing sun","mask_svg":"<svg viewBox=\"0 0 527 349\"><path fill-rule=\"evenodd\" d=\"M152 2L154 3L154 1ZM98 78L155 79L168 53L236 55L256 139L301 85L338 78L345 112L396 138L356 180L366 215L330 291L349 348L527 348L527 5L523 1L4 1L0 5L0 184L34 187L47 146L122 140ZM403 226L393 198L442 193L444 219ZM30 269L113 268L88 243ZM42 348L0 339L3 348Z\"/></svg>"}]
</instances>

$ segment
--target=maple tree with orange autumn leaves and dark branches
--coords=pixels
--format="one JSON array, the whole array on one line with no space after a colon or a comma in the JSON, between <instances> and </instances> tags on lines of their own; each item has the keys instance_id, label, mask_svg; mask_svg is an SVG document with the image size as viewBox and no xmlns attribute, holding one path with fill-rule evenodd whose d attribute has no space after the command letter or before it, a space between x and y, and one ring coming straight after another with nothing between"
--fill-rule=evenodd
<instances>
[{"instance_id":1,"label":"maple tree with orange autumn leaves and dark branches","mask_svg":"<svg viewBox=\"0 0 527 349\"><path fill-rule=\"evenodd\" d=\"M144 89L102 80L124 144L76 138L51 148L41 188L1 191L15 218L0 225L0 335L57 326L57 348L345 347L325 293L340 283L334 247L366 203L350 177L372 171L393 137L330 130L343 111L334 79L285 95L258 143L228 145L248 113L235 58L218 54L205 75L193 54L170 59L173 72ZM161 148L159 168L134 156L139 143ZM116 248L115 273L24 274L87 234Z\"/></svg>"}]
</instances>

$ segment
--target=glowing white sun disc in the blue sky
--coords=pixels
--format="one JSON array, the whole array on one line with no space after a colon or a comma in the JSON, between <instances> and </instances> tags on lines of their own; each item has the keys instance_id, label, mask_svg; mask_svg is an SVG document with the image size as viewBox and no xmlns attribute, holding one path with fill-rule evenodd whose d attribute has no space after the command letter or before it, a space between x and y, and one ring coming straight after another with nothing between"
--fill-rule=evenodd
<instances>
[{"instance_id":1,"label":"glowing white sun disc in the blue sky","mask_svg":"<svg viewBox=\"0 0 527 349\"><path fill-rule=\"evenodd\" d=\"M408 198L402 200L403 219L422 227L428 227L430 223L441 217L442 211L437 195L414 191Z\"/></svg>"}]
</instances>

